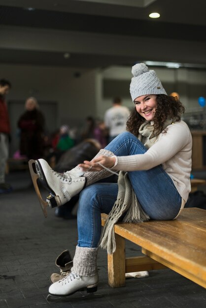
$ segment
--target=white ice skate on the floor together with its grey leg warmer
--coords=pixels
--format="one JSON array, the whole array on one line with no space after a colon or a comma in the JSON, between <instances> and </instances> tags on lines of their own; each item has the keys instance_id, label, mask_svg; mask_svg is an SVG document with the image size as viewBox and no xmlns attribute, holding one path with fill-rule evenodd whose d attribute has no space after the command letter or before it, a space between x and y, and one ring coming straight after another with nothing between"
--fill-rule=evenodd
<instances>
[{"instance_id":1,"label":"white ice skate on the floor together with its grey leg warmer","mask_svg":"<svg viewBox=\"0 0 206 308\"><path fill-rule=\"evenodd\" d=\"M49 294L68 296L82 290L86 290L87 293L96 292L99 279L97 252L98 248L76 246L71 272L53 283L49 287Z\"/></svg>"}]
</instances>

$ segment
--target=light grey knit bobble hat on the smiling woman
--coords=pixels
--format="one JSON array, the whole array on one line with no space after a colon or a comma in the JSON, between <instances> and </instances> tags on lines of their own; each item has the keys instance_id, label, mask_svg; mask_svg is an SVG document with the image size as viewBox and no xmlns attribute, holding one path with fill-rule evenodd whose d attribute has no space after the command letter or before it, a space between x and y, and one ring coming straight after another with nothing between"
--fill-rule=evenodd
<instances>
[{"instance_id":1,"label":"light grey knit bobble hat on the smiling woman","mask_svg":"<svg viewBox=\"0 0 206 308\"><path fill-rule=\"evenodd\" d=\"M138 63L132 67L133 78L130 84L132 100L141 95L166 94L161 81L154 70L149 70L144 63Z\"/></svg>"}]
</instances>

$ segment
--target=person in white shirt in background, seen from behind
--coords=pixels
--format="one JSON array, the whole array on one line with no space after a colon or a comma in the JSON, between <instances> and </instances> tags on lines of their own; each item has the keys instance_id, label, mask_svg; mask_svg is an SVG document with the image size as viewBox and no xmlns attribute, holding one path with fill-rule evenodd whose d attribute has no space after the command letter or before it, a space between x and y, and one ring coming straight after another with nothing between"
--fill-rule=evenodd
<instances>
[{"instance_id":1,"label":"person in white shirt in background, seen from behind","mask_svg":"<svg viewBox=\"0 0 206 308\"><path fill-rule=\"evenodd\" d=\"M120 97L114 97L113 106L106 110L104 115L104 124L109 131L109 142L116 136L126 131L127 120L130 116L130 110L122 106Z\"/></svg>"}]
</instances>

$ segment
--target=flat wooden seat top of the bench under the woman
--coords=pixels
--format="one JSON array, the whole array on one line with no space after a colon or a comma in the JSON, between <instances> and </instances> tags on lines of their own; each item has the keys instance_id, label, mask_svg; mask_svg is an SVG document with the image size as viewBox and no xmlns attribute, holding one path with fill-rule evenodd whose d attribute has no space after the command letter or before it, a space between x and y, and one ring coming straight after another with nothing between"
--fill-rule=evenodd
<instances>
[{"instance_id":1,"label":"flat wooden seat top of the bench under the woman","mask_svg":"<svg viewBox=\"0 0 206 308\"><path fill-rule=\"evenodd\" d=\"M103 225L106 217L102 215ZM115 235L141 246L142 252L150 258L206 287L205 210L184 209L174 220L150 220L136 224L119 222L114 231ZM125 258L121 248L117 247L117 250Z\"/></svg>"}]
</instances>

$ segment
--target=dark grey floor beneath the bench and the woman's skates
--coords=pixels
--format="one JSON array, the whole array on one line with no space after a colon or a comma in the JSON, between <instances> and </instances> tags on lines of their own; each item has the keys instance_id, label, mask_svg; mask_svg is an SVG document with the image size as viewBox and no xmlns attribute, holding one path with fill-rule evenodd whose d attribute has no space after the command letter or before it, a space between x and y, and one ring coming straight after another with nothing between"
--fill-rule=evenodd
<instances>
[{"instance_id":1,"label":"dark grey floor beneath the bench and the woman's skates","mask_svg":"<svg viewBox=\"0 0 206 308\"><path fill-rule=\"evenodd\" d=\"M76 220L48 209L44 218L28 172L7 176L14 191L0 194L0 308L205 308L206 290L172 270L151 271L149 277L126 280L122 288L107 285L106 252L99 251L100 283L96 295L77 292L47 301L49 277L58 272L57 255L77 242ZM140 254L129 242L128 256Z\"/></svg>"}]
</instances>

